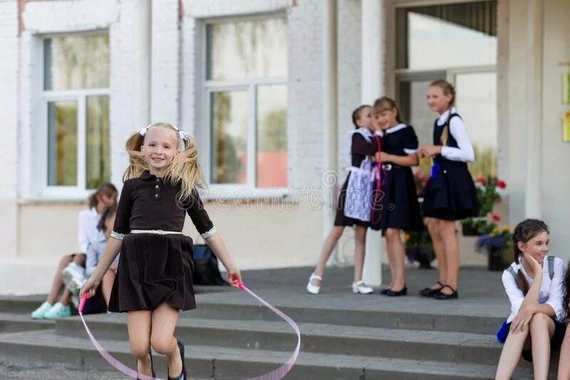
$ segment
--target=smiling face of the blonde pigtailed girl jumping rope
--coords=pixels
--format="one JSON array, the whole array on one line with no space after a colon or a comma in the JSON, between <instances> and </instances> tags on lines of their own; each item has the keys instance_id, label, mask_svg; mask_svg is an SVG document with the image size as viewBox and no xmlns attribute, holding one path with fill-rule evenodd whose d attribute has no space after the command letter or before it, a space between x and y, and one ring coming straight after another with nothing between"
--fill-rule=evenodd
<instances>
[{"instance_id":1,"label":"smiling face of the blonde pigtailed girl jumping rope","mask_svg":"<svg viewBox=\"0 0 570 380\"><path fill-rule=\"evenodd\" d=\"M140 147L150 173L160 175L172 164L178 154L178 139L175 130L167 127L151 127Z\"/></svg>"}]
</instances>

